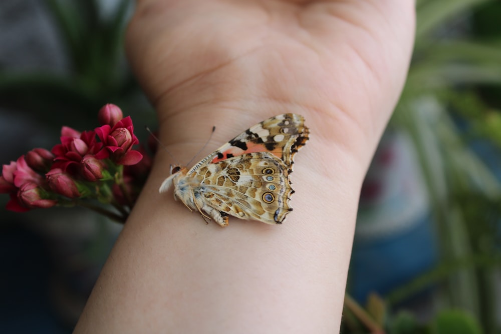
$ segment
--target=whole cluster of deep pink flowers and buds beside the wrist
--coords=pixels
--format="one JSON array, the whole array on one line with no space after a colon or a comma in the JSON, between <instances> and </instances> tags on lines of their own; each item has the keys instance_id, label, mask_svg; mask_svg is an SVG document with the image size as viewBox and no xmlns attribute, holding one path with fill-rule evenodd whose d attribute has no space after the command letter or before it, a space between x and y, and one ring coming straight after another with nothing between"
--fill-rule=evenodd
<instances>
[{"instance_id":1,"label":"whole cluster of deep pink flowers and buds beside the wrist","mask_svg":"<svg viewBox=\"0 0 501 334\"><path fill-rule=\"evenodd\" d=\"M92 131L63 127L61 143L51 151L35 148L4 165L0 193L11 197L6 208L24 212L81 205L124 221L152 160L144 148L133 149L139 140L130 116L124 118L119 107L105 105L98 119L101 126Z\"/></svg>"}]
</instances>

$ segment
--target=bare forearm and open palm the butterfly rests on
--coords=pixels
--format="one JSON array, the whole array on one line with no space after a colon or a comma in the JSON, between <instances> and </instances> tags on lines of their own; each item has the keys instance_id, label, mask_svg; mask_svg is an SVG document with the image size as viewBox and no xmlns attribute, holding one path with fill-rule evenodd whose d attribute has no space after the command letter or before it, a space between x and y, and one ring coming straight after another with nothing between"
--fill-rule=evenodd
<instances>
[{"instance_id":1,"label":"bare forearm and open palm the butterfly rests on","mask_svg":"<svg viewBox=\"0 0 501 334\"><path fill-rule=\"evenodd\" d=\"M158 193L177 162L160 150L75 332L339 331L360 187L413 32L410 0L138 0L127 52L176 159L212 125L195 162L285 112L311 139L282 225L206 225Z\"/></svg>"}]
</instances>

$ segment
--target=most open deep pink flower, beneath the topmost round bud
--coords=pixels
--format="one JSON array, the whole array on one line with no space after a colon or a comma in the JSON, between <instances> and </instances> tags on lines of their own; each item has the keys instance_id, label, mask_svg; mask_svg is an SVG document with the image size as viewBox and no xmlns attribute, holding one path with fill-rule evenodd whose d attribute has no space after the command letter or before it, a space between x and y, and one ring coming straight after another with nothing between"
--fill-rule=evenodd
<instances>
[{"instance_id":1,"label":"most open deep pink flower, beneath the topmost round bud","mask_svg":"<svg viewBox=\"0 0 501 334\"><path fill-rule=\"evenodd\" d=\"M96 134L104 144L104 148L96 154L98 159L110 158L118 165L135 165L141 161L143 155L132 150L132 146L139 143L134 135L134 126L130 116L119 121L112 127L105 124L96 129Z\"/></svg>"}]
</instances>

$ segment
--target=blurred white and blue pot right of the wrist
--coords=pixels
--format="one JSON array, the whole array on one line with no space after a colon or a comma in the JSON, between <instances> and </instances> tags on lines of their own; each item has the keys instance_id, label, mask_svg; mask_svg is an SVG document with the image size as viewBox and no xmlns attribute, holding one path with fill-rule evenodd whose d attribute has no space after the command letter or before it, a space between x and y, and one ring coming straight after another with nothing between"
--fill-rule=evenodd
<instances>
[{"instance_id":1,"label":"blurred white and blue pot right of the wrist","mask_svg":"<svg viewBox=\"0 0 501 334\"><path fill-rule=\"evenodd\" d=\"M364 181L350 267L349 291L365 302L429 270L436 236L414 148L387 130Z\"/></svg>"}]
</instances>

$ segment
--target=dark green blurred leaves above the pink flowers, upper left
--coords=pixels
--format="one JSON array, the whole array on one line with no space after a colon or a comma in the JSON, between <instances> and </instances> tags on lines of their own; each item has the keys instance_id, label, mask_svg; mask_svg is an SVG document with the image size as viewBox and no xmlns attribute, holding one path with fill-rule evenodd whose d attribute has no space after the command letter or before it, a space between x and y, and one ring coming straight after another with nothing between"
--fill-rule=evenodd
<instances>
[{"instance_id":1,"label":"dark green blurred leaves above the pink flowers, upper left","mask_svg":"<svg viewBox=\"0 0 501 334\"><path fill-rule=\"evenodd\" d=\"M22 111L46 127L95 123L106 103L126 114L151 111L129 70L123 32L131 0L118 0L116 11L103 15L99 0L44 0L70 64L63 73L40 70L0 72L0 107ZM148 115L153 120L153 113Z\"/></svg>"}]
</instances>

